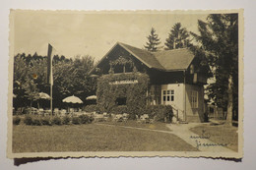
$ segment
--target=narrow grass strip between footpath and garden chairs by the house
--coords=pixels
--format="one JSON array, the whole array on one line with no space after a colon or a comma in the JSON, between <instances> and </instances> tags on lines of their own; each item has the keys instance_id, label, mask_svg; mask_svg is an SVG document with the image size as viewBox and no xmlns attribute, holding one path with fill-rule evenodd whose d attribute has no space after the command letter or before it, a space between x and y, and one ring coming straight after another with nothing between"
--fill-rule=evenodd
<instances>
[{"instance_id":1,"label":"narrow grass strip between footpath and garden chairs by the house","mask_svg":"<svg viewBox=\"0 0 256 170\"><path fill-rule=\"evenodd\" d=\"M116 126L126 126L126 127L136 127L136 128L144 128L150 130L160 130L160 131L170 131L165 123L155 122L154 124L145 124L145 123L137 123L133 120L128 120L127 122L100 122L100 124L107 124L107 125L116 125Z\"/></svg>"}]
</instances>

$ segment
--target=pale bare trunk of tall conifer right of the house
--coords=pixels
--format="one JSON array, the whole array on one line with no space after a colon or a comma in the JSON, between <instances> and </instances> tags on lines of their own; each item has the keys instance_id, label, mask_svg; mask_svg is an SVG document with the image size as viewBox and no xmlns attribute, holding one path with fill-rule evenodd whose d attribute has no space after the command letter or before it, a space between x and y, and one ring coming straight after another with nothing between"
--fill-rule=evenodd
<instances>
[{"instance_id":1,"label":"pale bare trunk of tall conifer right of the house","mask_svg":"<svg viewBox=\"0 0 256 170\"><path fill-rule=\"evenodd\" d=\"M229 75L228 88L227 88L227 94L228 94L227 113L226 113L226 121L225 121L225 124L228 125L228 126L232 126L232 110L233 110L232 85L233 85L232 76Z\"/></svg>"}]
</instances>

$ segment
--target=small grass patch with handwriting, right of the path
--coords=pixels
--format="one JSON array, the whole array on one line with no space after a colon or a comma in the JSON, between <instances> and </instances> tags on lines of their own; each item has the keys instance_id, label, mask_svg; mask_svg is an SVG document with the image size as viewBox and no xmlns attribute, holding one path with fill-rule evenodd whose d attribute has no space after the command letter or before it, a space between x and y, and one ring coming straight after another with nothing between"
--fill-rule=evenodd
<instances>
[{"instance_id":1,"label":"small grass patch with handwriting, right of the path","mask_svg":"<svg viewBox=\"0 0 256 170\"><path fill-rule=\"evenodd\" d=\"M228 127L225 125L211 126L209 124L204 124L192 128L190 131L199 136L204 132L205 135L210 136L210 141L227 143L227 148L238 151L238 134L236 133L236 127Z\"/></svg>"}]
</instances>

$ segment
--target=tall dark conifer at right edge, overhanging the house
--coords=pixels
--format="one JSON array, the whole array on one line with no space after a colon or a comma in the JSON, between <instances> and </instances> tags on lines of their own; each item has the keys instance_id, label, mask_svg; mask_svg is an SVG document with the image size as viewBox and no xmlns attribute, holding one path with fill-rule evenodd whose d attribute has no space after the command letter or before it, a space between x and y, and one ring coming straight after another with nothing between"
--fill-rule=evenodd
<instances>
[{"instance_id":1,"label":"tall dark conifer at right edge, overhanging the house","mask_svg":"<svg viewBox=\"0 0 256 170\"><path fill-rule=\"evenodd\" d=\"M216 80L208 87L209 96L232 125L232 113L238 110L238 15L209 15L207 22L198 21L198 28L199 35L191 34L201 45L193 49L206 56Z\"/></svg>"}]
</instances>

